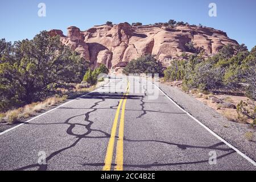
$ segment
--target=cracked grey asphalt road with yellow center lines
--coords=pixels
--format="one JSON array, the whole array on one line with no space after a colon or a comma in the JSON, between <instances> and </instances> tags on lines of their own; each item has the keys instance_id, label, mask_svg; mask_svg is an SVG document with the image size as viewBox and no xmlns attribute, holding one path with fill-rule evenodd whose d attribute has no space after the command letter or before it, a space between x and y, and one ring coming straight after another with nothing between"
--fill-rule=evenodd
<instances>
[{"instance_id":1,"label":"cracked grey asphalt road with yellow center lines","mask_svg":"<svg viewBox=\"0 0 256 182\"><path fill-rule=\"evenodd\" d=\"M139 78L110 79L0 135L0 169L256 169L151 87Z\"/></svg>"}]
</instances>

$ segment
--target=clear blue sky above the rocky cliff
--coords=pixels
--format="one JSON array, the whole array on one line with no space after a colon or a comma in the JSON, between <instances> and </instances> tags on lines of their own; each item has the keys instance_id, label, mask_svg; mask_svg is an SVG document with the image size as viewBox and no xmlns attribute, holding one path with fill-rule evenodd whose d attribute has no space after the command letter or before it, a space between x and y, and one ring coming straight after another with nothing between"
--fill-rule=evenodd
<instances>
[{"instance_id":1,"label":"clear blue sky above the rocky cliff","mask_svg":"<svg viewBox=\"0 0 256 182\"><path fill-rule=\"evenodd\" d=\"M38 16L40 2L46 4L43 18ZM208 15L211 2L217 5L217 17ZM0 1L0 17L0 38L12 42L31 39L42 30L86 30L107 20L150 24L175 19L223 30L249 49L256 46L255 0L9 0Z\"/></svg>"}]
</instances>

